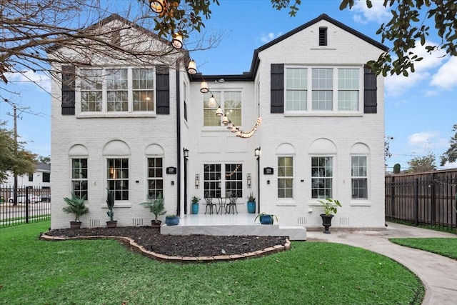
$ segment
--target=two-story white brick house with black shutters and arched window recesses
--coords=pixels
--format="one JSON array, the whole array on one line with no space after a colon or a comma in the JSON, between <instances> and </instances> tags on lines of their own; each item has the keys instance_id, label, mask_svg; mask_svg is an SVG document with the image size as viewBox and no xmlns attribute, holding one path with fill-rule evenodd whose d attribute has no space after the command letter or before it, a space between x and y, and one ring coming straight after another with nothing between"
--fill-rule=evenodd
<instances>
[{"instance_id":1,"label":"two-story white brick house with black shutters and arched window recesses","mask_svg":"<svg viewBox=\"0 0 457 305\"><path fill-rule=\"evenodd\" d=\"M131 25L113 15L96 26L120 24ZM134 31L145 35L124 26L119 43ZM318 199L332 197L343 204L333 227L381 228L384 87L365 64L386 49L323 14L254 50L240 75L190 75L189 54L173 49L149 66L106 57L90 67L56 65L63 81L52 85L51 195L86 195L83 226L107 220L109 188L119 226L148 224L152 215L139 205L148 194L162 192L167 214L185 217L191 196L234 192L245 203L253 192L260 211L283 225L321 228ZM75 56L63 48L49 56L62 54ZM222 124L217 104L246 139ZM68 227L64 201L54 202L52 229Z\"/></svg>"}]
</instances>

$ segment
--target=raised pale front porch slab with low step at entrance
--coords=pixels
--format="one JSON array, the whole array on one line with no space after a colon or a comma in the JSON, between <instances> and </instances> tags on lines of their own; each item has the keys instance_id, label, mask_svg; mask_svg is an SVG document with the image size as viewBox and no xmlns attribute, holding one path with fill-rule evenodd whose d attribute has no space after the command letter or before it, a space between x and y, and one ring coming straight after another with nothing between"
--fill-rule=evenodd
<instances>
[{"instance_id":1,"label":"raised pale front porch slab with low step at entrance","mask_svg":"<svg viewBox=\"0 0 457 305\"><path fill-rule=\"evenodd\" d=\"M306 240L303 226L262 225L254 222L256 214L189 214L179 219L177 226L161 226L161 234L169 235L254 235L288 236L290 240Z\"/></svg>"}]
</instances>

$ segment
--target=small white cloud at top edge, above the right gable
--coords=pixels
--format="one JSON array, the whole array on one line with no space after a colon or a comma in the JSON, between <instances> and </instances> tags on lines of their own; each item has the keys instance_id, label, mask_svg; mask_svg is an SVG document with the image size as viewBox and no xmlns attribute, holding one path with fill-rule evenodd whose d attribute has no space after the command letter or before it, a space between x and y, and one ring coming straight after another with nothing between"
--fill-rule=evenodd
<instances>
[{"instance_id":1,"label":"small white cloud at top edge, above the right gable","mask_svg":"<svg viewBox=\"0 0 457 305\"><path fill-rule=\"evenodd\" d=\"M368 9L366 6L366 1L356 1L352 6L351 11L355 14L353 15L354 21L361 24L368 24L368 22L377 22L382 24L385 21L391 19L392 14L390 9L383 6L383 1L374 0L371 1L373 6L371 9Z\"/></svg>"}]
</instances>

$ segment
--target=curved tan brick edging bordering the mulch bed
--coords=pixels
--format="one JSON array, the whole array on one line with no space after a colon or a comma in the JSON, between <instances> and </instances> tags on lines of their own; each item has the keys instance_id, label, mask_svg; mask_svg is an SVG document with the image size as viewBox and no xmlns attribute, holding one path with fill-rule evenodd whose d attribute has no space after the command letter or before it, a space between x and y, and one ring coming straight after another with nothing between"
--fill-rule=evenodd
<instances>
[{"instance_id":1,"label":"curved tan brick edging bordering the mulch bed","mask_svg":"<svg viewBox=\"0 0 457 305\"><path fill-rule=\"evenodd\" d=\"M40 239L46 241L65 241L71 239L114 239L116 241L121 241L122 244L128 246L130 249L133 249L144 256L148 256L151 259L157 259L159 261L171 261L176 263L198 263L198 262L213 262L213 261L236 261L238 259L253 259L260 256L265 256L268 254L274 254L277 252L287 251L291 249L291 241L286 239L286 244L276 245L265 248L263 250L243 253L243 254L232 254L232 255L216 255L216 256L168 256L154 251L148 251L144 246L136 244L134 239L124 236L79 236L79 237L64 237L64 236L48 236L46 233L41 234Z\"/></svg>"}]
</instances>

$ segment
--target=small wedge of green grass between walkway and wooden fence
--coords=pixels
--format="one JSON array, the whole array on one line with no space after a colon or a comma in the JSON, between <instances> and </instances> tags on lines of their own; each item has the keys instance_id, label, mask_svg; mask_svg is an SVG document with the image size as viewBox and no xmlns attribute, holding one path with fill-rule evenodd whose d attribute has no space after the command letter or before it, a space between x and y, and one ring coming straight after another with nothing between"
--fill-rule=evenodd
<instances>
[{"instance_id":1,"label":"small wedge of green grass between walkway and wooden fence","mask_svg":"<svg viewBox=\"0 0 457 305\"><path fill-rule=\"evenodd\" d=\"M389 239L389 241L457 259L457 238Z\"/></svg>"}]
</instances>

